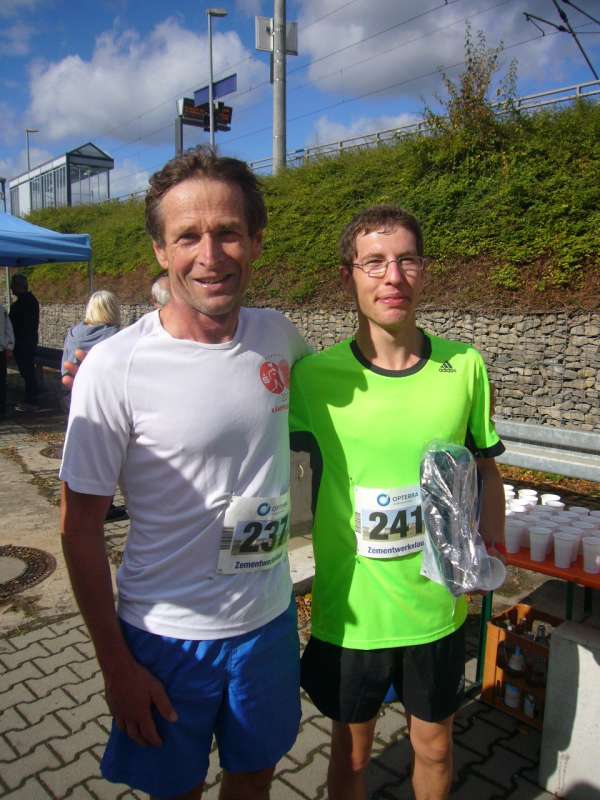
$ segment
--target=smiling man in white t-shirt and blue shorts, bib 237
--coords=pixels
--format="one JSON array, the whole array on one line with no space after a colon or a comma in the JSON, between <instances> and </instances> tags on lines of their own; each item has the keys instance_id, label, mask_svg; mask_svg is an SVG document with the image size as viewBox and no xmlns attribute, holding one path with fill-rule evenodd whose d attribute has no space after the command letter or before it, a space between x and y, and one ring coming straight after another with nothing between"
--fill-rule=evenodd
<instances>
[{"instance_id":1,"label":"smiling man in white t-shirt and blue shorts, bib 237","mask_svg":"<svg viewBox=\"0 0 600 800\"><path fill-rule=\"evenodd\" d=\"M146 228L171 299L97 345L73 390L63 546L114 717L102 772L156 798L201 796L215 735L223 800L264 800L300 719L288 385L308 348L278 312L241 307L266 221L243 162L198 148L156 173Z\"/></svg>"}]
</instances>

